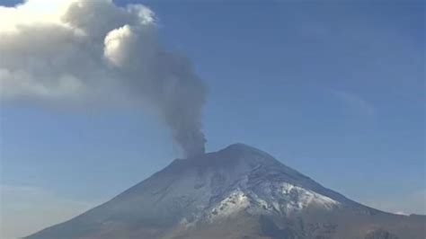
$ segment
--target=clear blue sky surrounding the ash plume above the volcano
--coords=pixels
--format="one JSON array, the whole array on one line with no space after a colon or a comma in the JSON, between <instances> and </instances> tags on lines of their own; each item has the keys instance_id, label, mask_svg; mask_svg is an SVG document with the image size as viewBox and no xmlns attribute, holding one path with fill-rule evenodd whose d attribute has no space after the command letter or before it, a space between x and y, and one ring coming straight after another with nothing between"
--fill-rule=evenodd
<instances>
[{"instance_id":1,"label":"clear blue sky surrounding the ash plume above the volcano","mask_svg":"<svg viewBox=\"0 0 426 239\"><path fill-rule=\"evenodd\" d=\"M426 213L423 1L114 3L149 7L162 46L208 85L207 152L241 142L360 203ZM2 238L67 220L182 157L142 106L2 101L0 113Z\"/></svg>"}]
</instances>

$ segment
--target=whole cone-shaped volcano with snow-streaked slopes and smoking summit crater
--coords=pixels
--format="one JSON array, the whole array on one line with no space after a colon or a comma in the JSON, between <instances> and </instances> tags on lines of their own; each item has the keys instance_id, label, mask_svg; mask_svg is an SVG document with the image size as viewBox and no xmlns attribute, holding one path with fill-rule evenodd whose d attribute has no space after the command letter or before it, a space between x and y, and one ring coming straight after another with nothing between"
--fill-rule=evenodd
<instances>
[{"instance_id":1,"label":"whole cone-shaped volcano with snow-streaked slopes and smoking summit crater","mask_svg":"<svg viewBox=\"0 0 426 239\"><path fill-rule=\"evenodd\" d=\"M368 208L243 144L176 159L27 239L424 239L426 219Z\"/></svg>"}]
</instances>

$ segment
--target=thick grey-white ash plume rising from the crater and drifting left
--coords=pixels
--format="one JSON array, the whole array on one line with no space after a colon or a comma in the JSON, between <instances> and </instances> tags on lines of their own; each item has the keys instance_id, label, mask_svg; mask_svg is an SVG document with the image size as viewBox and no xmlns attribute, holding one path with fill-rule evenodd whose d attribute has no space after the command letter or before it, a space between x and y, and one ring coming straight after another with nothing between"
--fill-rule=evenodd
<instances>
[{"instance_id":1,"label":"thick grey-white ash plume rising from the crater and drifting left","mask_svg":"<svg viewBox=\"0 0 426 239\"><path fill-rule=\"evenodd\" d=\"M157 40L155 13L111 0L29 0L0 7L5 101L137 102L154 109L185 156L204 153L207 87L191 61Z\"/></svg>"}]
</instances>

